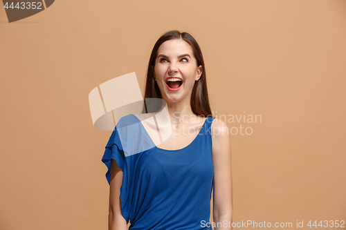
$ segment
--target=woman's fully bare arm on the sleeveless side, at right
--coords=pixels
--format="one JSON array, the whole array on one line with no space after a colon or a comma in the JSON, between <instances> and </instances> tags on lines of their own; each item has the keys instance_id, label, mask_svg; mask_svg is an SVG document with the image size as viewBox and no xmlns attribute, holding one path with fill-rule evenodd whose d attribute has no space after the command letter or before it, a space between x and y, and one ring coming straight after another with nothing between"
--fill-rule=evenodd
<instances>
[{"instance_id":1,"label":"woman's fully bare arm on the sleeveless side, at right","mask_svg":"<svg viewBox=\"0 0 346 230\"><path fill-rule=\"evenodd\" d=\"M212 122L212 161L214 163L213 218L215 230L232 229L232 164L230 135L225 122ZM219 226L217 223L219 222Z\"/></svg>"}]
</instances>

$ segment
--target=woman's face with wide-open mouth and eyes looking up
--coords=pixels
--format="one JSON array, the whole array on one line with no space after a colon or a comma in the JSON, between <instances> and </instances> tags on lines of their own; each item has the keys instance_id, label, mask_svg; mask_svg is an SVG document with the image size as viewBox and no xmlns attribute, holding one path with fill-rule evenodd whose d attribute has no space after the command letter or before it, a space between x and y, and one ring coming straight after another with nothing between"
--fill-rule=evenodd
<instances>
[{"instance_id":1,"label":"woman's face with wide-open mouth and eyes looking up","mask_svg":"<svg viewBox=\"0 0 346 230\"><path fill-rule=\"evenodd\" d=\"M183 39L170 39L158 48L154 77L167 103L190 104L194 82L201 75L202 66L197 66L192 47Z\"/></svg>"}]
</instances>

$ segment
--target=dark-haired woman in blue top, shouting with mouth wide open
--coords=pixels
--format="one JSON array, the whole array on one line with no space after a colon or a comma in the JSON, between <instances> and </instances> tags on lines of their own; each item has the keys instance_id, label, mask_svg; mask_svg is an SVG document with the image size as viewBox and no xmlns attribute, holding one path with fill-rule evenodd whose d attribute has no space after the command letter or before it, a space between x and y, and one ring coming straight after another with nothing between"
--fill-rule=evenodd
<instances>
[{"instance_id":1,"label":"dark-haired woman in blue top, shouting with mouth wide open","mask_svg":"<svg viewBox=\"0 0 346 230\"><path fill-rule=\"evenodd\" d=\"M212 117L201 49L187 32L172 30L156 41L145 84L145 101L149 98L167 104L172 135L153 148L126 156L118 122L102 157L109 169L109 229L125 230L129 220L129 229L140 230L212 229L211 225L231 229L228 127ZM147 113L163 108L163 104L146 104ZM125 117L140 121L134 115ZM151 140L144 133L143 140Z\"/></svg>"}]
</instances>

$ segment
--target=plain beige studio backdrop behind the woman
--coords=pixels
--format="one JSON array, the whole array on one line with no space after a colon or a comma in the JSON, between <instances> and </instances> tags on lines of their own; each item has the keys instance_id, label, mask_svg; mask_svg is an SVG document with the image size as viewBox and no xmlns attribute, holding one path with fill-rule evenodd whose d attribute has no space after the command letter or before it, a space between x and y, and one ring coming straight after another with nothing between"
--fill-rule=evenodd
<instances>
[{"instance_id":1,"label":"plain beige studio backdrop behind the woman","mask_svg":"<svg viewBox=\"0 0 346 230\"><path fill-rule=\"evenodd\" d=\"M215 114L262 115L228 123L253 128L231 135L234 222L346 220L346 1L60 0L0 21L1 230L107 229L89 92L136 72L143 93L174 29L202 48Z\"/></svg>"}]
</instances>

